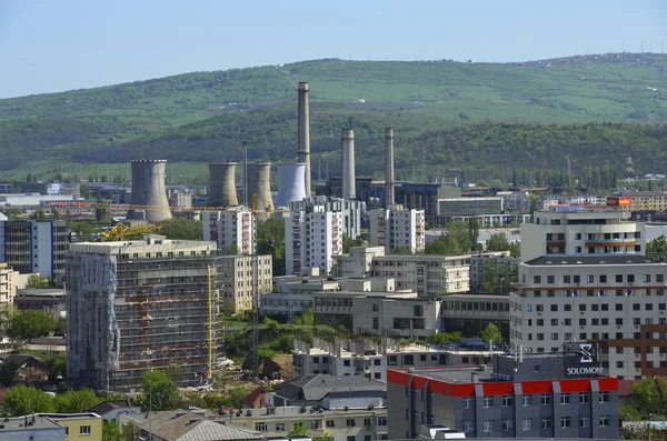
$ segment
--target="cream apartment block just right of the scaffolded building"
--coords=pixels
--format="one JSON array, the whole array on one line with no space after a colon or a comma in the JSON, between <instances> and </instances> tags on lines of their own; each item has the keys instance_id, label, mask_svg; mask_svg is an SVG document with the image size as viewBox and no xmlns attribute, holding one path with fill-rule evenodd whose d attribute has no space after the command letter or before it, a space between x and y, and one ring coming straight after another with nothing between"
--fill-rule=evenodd
<instances>
[{"instance_id":1,"label":"cream apartment block just right of the scaffolded building","mask_svg":"<svg viewBox=\"0 0 667 441\"><path fill-rule=\"evenodd\" d=\"M223 255L217 262L220 300L225 311L240 313L252 310L252 292L272 290L271 255ZM256 281L256 283L253 282ZM257 287L255 287L257 284Z\"/></svg>"}]
</instances>

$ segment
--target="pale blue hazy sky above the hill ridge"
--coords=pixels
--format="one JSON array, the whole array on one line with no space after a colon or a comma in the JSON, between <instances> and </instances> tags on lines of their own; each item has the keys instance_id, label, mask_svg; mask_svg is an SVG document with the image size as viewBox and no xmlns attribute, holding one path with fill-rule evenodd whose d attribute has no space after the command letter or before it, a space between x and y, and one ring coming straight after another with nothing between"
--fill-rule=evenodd
<instances>
[{"instance_id":1,"label":"pale blue hazy sky above the hill ridge","mask_svg":"<svg viewBox=\"0 0 667 441\"><path fill-rule=\"evenodd\" d=\"M0 98L320 58L660 52L665 0L0 0Z\"/></svg>"}]
</instances>

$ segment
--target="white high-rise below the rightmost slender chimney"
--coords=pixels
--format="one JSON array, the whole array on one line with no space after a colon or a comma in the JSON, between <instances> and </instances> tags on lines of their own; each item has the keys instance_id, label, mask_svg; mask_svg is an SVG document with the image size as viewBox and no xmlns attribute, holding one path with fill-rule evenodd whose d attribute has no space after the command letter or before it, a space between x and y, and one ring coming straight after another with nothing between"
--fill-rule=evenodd
<instances>
[{"instance_id":1,"label":"white high-rise below the rightmost slender chimney","mask_svg":"<svg viewBox=\"0 0 667 441\"><path fill-rule=\"evenodd\" d=\"M397 248L412 253L424 251L424 210L404 210L400 206L371 210L369 227L371 247L385 247L387 252Z\"/></svg>"}]
</instances>

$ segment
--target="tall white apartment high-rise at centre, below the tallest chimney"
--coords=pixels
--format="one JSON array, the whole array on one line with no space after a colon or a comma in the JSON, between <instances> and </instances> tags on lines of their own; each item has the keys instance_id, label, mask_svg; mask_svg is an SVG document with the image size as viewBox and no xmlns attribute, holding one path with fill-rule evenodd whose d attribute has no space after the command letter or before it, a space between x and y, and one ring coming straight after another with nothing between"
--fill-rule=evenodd
<instances>
[{"instance_id":1,"label":"tall white apartment high-rise at centre, below the tallest chimney","mask_svg":"<svg viewBox=\"0 0 667 441\"><path fill-rule=\"evenodd\" d=\"M286 273L298 274L303 267L328 273L332 257L342 253L342 235L356 239L361 229L361 203L351 200L311 197L289 203L285 222Z\"/></svg>"}]
</instances>

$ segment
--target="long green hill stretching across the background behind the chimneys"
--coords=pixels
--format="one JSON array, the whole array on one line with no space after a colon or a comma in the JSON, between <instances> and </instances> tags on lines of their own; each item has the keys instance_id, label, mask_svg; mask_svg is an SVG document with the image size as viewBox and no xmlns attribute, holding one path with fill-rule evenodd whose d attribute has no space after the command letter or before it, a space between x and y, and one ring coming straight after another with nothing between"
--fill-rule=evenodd
<instances>
[{"instance_id":1,"label":"long green hill stretching across the background behind the chimneys","mask_svg":"<svg viewBox=\"0 0 667 441\"><path fill-rule=\"evenodd\" d=\"M135 158L238 160L241 139L253 160L290 161L296 83L309 81L313 170L330 174L344 127L356 131L359 173L381 174L388 126L404 178L445 168L504 178L507 167L564 167L565 153L575 170L621 170L629 141L646 171L659 171L665 129L653 126L667 122L666 67L667 57L646 53L508 64L317 60L6 99L0 169L18 177ZM615 124L579 126L588 122Z\"/></svg>"}]
</instances>

